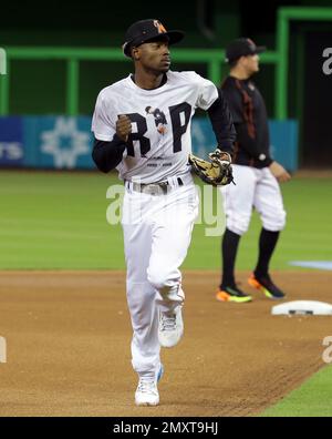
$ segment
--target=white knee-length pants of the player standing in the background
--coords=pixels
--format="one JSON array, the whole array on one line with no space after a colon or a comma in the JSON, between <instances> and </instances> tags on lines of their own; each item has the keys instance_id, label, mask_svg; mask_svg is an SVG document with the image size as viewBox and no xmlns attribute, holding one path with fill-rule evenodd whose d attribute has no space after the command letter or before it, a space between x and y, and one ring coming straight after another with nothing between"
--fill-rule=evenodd
<instances>
[{"instance_id":1,"label":"white knee-length pants of the player standing in the background","mask_svg":"<svg viewBox=\"0 0 332 439\"><path fill-rule=\"evenodd\" d=\"M259 213L262 226L279 232L286 224L280 186L269 167L232 165L236 185L221 187L227 228L238 235L247 232L252 207Z\"/></svg>"}]
</instances>

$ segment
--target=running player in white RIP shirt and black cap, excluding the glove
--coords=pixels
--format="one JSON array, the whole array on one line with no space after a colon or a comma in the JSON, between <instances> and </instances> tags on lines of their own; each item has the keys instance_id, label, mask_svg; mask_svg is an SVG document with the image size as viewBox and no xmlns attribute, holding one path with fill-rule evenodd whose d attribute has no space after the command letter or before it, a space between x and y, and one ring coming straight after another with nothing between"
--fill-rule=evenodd
<instances>
[{"instance_id":1,"label":"running player in white RIP shirt and black cap, excluding the glove","mask_svg":"<svg viewBox=\"0 0 332 439\"><path fill-rule=\"evenodd\" d=\"M135 72L101 91L92 122L97 167L116 167L125 184L122 225L138 406L158 405L160 346L175 346L184 331L179 267L198 207L188 165L195 110L208 111L220 150L231 150L236 137L221 92L195 72L169 70L169 45L183 37L158 20L132 24L123 51Z\"/></svg>"}]
</instances>

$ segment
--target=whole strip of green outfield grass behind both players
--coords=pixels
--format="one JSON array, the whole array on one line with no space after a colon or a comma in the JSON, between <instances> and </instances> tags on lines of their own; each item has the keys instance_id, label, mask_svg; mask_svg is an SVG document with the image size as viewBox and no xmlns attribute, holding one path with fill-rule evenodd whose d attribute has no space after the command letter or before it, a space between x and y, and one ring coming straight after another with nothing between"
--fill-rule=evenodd
<instances>
[{"instance_id":1,"label":"whole strip of green outfield grass behind both players","mask_svg":"<svg viewBox=\"0 0 332 439\"><path fill-rule=\"evenodd\" d=\"M124 268L122 228L106 222L106 190L114 183L115 175L100 173L1 171L0 269ZM288 265L293 259L332 259L332 178L294 178L282 188L288 225L272 268L301 269ZM220 237L205 231L195 226L185 268L220 267ZM259 231L253 215L239 269L252 268Z\"/></svg>"}]
</instances>

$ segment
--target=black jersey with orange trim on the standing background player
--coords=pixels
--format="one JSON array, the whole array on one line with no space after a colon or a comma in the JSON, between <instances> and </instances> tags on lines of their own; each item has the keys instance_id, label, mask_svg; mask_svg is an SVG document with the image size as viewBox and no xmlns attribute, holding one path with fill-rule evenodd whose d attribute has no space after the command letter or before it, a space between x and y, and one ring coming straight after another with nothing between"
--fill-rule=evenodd
<instances>
[{"instance_id":1,"label":"black jersey with orange trim on the standing background player","mask_svg":"<svg viewBox=\"0 0 332 439\"><path fill-rule=\"evenodd\" d=\"M253 82L228 76L222 86L232 114L237 142L232 162L264 167L272 163L268 114L264 101Z\"/></svg>"}]
</instances>

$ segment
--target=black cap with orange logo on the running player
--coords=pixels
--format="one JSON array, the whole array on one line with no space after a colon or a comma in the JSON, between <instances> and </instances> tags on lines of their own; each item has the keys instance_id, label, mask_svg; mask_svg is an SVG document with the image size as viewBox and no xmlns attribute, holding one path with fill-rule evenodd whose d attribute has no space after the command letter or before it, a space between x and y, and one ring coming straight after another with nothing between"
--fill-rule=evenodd
<instances>
[{"instance_id":1,"label":"black cap with orange logo on the running player","mask_svg":"<svg viewBox=\"0 0 332 439\"><path fill-rule=\"evenodd\" d=\"M167 37L169 44L175 44L185 37L185 33L178 30L167 31L159 20L136 21L125 33L125 41L122 45L123 52L131 58L131 49L133 47L157 40L160 35Z\"/></svg>"}]
</instances>

